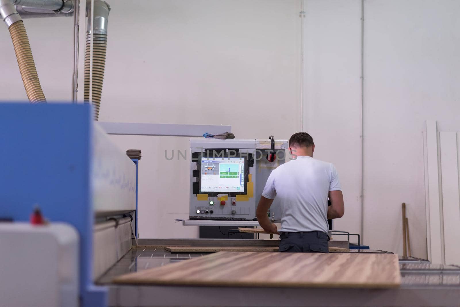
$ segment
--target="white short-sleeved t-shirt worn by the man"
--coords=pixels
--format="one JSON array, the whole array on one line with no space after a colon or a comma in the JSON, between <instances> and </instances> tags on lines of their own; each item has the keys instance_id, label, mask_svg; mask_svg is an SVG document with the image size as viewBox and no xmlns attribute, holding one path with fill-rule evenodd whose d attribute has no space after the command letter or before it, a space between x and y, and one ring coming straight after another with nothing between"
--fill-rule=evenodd
<instances>
[{"instance_id":1,"label":"white short-sleeved t-shirt worn by the man","mask_svg":"<svg viewBox=\"0 0 460 307\"><path fill-rule=\"evenodd\" d=\"M279 231L328 233L328 192L341 190L332 163L298 156L271 172L262 196L280 200Z\"/></svg>"}]
</instances>

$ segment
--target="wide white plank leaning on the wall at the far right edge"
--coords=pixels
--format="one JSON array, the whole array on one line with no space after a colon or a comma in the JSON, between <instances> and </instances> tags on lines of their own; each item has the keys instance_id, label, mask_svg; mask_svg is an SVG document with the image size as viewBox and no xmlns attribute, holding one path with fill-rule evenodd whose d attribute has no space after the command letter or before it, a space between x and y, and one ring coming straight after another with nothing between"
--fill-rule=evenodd
<instances>
[{"instance_id":1,"label":"wide white plank leaning on the wall at the far right edge","mask_svg":"<svg viewBox=\"0 0 460 307\"><path fill-rule=\"evenodd\" d=\"M459 171L457 133L440 132L441 181L443 195L444 256L446 264L460 263Z\"/></svg>"}]
</instances>

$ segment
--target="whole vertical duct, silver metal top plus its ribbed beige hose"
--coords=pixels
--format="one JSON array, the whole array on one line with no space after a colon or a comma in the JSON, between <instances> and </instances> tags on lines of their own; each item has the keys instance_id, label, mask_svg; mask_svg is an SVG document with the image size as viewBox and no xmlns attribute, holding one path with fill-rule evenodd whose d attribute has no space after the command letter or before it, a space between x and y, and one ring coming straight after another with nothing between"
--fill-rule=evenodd
<instances>
[{"instance_id":1,"label":"whole vertical duct, silver metal top plus its ribbed beige hose","mask_svg":"<svg viewBox=\"0 0 460 307\"><path fill-rule=\"evenodd\" d=\"M89 2L89 1L88 1ZM88 10L91 5L87 4ZM98 120L101 106L102 85L104 82L105 56L107 53L107 25L110 6L102 0L94 1L94 12L88 11L88 29L85 48L85 90L84 100L94 106L94 119ZM93 34L91 33L91 22ZM92 40L92 50L91 50ZM91 61L92 60L92 61ZM91 63L92 62L92 63ZM90 76L91 74L91 76ZM91 82L90 82L91 80ZM91 100L90 100L91 84Z\"/></svg>"}]
</instances>

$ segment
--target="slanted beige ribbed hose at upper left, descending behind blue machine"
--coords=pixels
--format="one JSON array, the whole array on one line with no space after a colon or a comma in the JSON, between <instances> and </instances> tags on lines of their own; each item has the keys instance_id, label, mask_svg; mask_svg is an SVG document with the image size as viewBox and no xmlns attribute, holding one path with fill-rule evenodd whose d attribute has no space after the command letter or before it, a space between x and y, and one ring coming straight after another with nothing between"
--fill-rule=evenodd
<instances>
[{"instance_id":1,"label":"slanted beige ribbed hose at upper left, descending behind blue machine","mask_svg":"<svg viewBox=\"0 0 460 307\"><path fill-rule=\"evenodd\" d=\"M8 29L10 30L11 40L13 41L14 51L16 52L17 64L19 65L19 71L21 72L21 77L23 78L24 87L30 103L46 103L23 21L20 20L11 24Z\"/></svg>"}]
</instances>

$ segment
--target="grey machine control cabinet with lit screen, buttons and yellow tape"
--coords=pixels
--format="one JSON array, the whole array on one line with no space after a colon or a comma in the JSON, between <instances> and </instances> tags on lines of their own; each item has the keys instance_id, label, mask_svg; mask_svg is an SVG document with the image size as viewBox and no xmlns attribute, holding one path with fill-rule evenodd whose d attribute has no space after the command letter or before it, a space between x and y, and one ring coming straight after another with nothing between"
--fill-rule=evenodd
<instances>
[{"instance_id":1,"label":"grey machine control cabinet with lit screen, buttons and yellow tape","mask_svg":"<svg viewBox=\"0 0 460 307\"><path fill-rule=\"evenodd\" d=\"M286 140L190 139L190 219L253 220L271 171L285 162ZM281 151L282 153L278 153ZM275 199L272 210L279 207ZM281 213L279 214L281 215Z\"/></svg>"}]
</instances>

